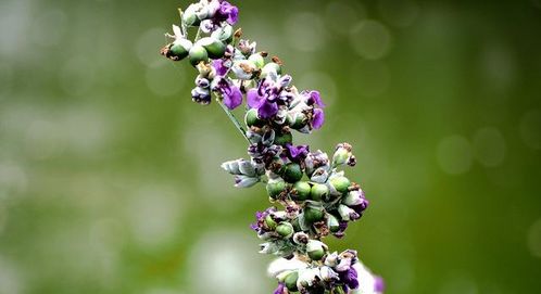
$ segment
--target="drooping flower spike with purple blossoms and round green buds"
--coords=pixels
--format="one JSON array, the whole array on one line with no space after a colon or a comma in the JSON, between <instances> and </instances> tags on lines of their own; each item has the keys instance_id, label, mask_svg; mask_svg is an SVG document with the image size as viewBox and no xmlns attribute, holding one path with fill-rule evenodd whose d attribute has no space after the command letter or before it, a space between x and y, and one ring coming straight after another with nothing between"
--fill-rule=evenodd
<instances>
[{"instance_id":1,"label":"drooping flower spike with purple blossoms and round green buds","mask_svg":"<svg viewBox=\"0 0 541 294\"><path fill-rule=\"evenodd\" d=\"M199 72L192 100L206 105L214 95L249 142L249 159L222 167L234 175L236 187L265 184L274 204L256 213L251 228L263 241L261 253L278 256L269 267L278 281L275 294L381 293L381 279L355 251L329 252L322 241L342 238L368 206L361 187L341 170L356 163L352 146L338 144L329 158L293 143L293 131L310 133L323 126L325 104L318 91L298 90L278 57L241 39L241 30L232 27L238 13L223 0L190 4L180 11L180 26L166 35L172 42L161 53L172 61L189 60ZM197 29L193 40L190 29ZM242 104L246 127L231 113Z\"/></svg>"}]
</instances>

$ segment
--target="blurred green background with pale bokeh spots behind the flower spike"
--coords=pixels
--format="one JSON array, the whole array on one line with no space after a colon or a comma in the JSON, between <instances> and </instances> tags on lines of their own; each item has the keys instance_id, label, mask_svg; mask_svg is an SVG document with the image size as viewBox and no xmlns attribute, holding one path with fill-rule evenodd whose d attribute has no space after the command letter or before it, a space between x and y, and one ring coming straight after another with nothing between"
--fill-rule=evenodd
<instances>
[{"instance_id":1,"label":"blurred green background with pale bokeh spots behind the flower spike","mask_svg":"<svg viewBox=\"0 0 541 294\"><path fill-rule=\"evenodd\" d=\"M236 1L351 142L387 293L541 292L541 1ZM0 2L0 293L272 293L246 144L159 55L187 1Z\"/></svg>"}]
</instances>

